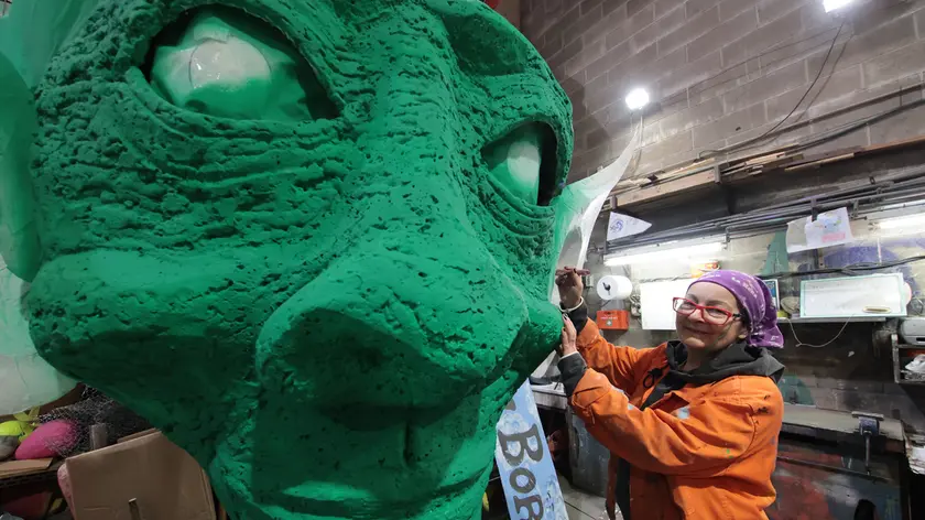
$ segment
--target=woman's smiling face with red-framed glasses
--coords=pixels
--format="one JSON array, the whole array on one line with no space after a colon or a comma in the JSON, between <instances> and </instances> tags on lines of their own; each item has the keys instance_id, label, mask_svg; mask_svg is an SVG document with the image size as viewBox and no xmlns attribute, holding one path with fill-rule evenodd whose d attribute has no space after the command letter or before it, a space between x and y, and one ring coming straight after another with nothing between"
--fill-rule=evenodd
<instances>
[{"instance_id":1,"label":"woman's smiling face with red-framed glasses","mask_svg":"<svg viewBox=\"0 0 925 520\"><path fill-rule=\"evenodd\" d=\"M716 283L695 283L687 290L685 297L697 305L717 307L733 315L743 314L736 296ZM716 353L748 336L744 316L733 316L721 323L726 319L722 313L715 313L720 316L718 319L704 314L699 310L687 315L677 313L675 328L687 348Z\"/></svg>"}]
</instances>

